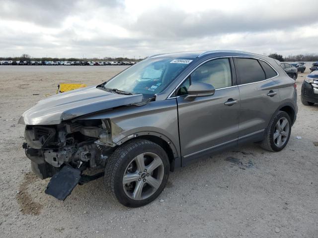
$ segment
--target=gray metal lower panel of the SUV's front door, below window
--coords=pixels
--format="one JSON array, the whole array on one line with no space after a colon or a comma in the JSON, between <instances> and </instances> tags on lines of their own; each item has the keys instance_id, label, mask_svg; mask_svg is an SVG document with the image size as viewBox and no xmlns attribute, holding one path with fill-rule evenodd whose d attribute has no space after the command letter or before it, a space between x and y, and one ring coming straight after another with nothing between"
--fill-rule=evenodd
<instances>
[{"instance_id":1,"label":"gray metal lower panel of the SUV's front door, below window","mask_svg":"<svg viewBox=\"0 0 318 238\"><path fill-rule=\"evenodd\" d=\"M224 105L230 98L239 100L238 87L216 90L212 96L190 102L177 98L181 153L185 158L238 138L239 103Z\"/></svg>"}]
</instances>

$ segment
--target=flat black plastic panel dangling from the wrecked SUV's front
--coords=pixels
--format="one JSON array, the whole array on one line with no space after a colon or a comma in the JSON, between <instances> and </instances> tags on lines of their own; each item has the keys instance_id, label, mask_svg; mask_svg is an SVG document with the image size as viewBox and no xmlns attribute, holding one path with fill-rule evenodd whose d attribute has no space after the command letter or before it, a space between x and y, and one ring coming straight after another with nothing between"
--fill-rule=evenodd
<instances>
[{"instance_id":1,"label":"flat black plastic panel dangling from the wrecked SUV's front","mask_svg":"<svg viewBox=\"0 0 318 238\"><path fill-rule=\"evenodd\" d=\"M80 170L64 166L50 180L45 193L59 200L65 200L79 183Z\"/></svg>"}]
</instances>

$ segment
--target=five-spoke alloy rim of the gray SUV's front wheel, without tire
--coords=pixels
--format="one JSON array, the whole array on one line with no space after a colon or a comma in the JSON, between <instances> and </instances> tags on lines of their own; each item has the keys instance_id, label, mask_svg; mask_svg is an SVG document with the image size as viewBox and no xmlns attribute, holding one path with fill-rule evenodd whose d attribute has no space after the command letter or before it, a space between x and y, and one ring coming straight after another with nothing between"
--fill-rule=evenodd
<instances>
[{"instance_id":1,"label":"five-spoke alloy rim of the gray SUV's front wheel, without tire","mask_svg":"<svg viewBox=\"0 0 318 238\"><path fill-rule=\"evenodd\" d=\"M163 175L163 162L157 154L152 152L139 154L125 170L124 191L133 200L146 199L158 190Z\"/></svg>"}]
</instances>

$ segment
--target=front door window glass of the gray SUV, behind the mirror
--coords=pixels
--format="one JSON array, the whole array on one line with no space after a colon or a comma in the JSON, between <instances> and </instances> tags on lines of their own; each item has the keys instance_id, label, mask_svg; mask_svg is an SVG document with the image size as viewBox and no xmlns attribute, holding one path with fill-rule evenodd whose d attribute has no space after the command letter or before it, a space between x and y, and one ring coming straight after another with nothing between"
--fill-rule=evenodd
<instances>
[{"instance_id":1,"label":"front door window glass of the gray SUV, behind the mirror","mask_svg":"<svg viewBox=\"0 0 318 238\"><path fill-rule=\"evenodd\" d=\"M187 95L192 83L208 83L215 89L232 86L232 74L229 59L217 59L208 61L195 69L182 83L177 96Z\"/></svg>"}]
</instances>

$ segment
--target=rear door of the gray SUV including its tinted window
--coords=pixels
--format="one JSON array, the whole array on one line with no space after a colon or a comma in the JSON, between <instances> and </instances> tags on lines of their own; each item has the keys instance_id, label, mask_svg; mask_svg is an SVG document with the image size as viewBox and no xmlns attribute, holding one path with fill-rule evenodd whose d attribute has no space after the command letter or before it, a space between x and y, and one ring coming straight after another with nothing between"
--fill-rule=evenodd
<instances>
[{"instance_id":1,"label":"rear door of the gray SUV including its tinted window","mask_svg":"<svg viewBox=\"0 0 318 238\"><path fill-rule=\"evenodd\" d=\"M237 71L240 112L239 139L262 139L264 129L280 105L279 90L271 78L277 72L267 62L234 58Z\"/></svg>"}]
</instances>

